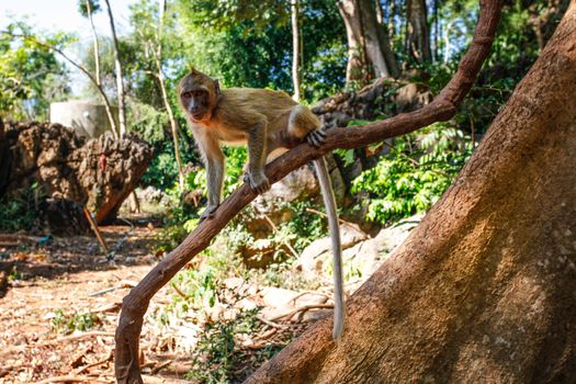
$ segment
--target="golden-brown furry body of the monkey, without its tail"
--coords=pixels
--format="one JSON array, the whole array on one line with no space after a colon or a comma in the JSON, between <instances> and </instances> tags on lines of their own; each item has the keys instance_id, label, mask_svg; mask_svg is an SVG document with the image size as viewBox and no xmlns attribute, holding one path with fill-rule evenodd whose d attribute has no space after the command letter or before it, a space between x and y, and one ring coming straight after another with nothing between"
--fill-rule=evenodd
<instances>
[{"instance_id":1,"label":"golden-brown furry body of the monkey, without its tail","mask_svg":"<svg viewBox=\"0 0 576 384\"><path fill-rule=\"evenodd\" d=\"M179 93L206 167L215 165L218 168L217 185L208 182L211 191L221 188L219 168L223 166L214 163L214 159L222 158L221 143L248 145L247 178L252 188L263 192L270 188L263 172L268 155L302 143L310 132L320 128L320 122L310 110L282 91L253 88L219 91L215 80L192 70L180 81ZM208 193L211 206L219 203L215 194Z\"/></svg>"}]
</instances>

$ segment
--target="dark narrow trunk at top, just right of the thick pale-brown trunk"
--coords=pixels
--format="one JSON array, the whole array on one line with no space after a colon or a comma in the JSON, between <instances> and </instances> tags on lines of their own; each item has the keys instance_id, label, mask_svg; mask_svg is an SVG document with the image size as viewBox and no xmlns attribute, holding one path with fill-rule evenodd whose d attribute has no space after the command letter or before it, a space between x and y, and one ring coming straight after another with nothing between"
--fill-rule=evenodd
<instances>
[{"instance_id":1,"label":"dark narrow trunk at top, just right of the thick pale-brown trunk","mask_svg":"<svg viewBox=\"0 0 576 384\"><path fill-rule=\"evenodd\" d=\"M432 58L430 53L430 31L426 13L425 0L406 1L406 20L408 26L406 47L408 55L417 63L430 61Z\"/></svg>"}]
</instances>

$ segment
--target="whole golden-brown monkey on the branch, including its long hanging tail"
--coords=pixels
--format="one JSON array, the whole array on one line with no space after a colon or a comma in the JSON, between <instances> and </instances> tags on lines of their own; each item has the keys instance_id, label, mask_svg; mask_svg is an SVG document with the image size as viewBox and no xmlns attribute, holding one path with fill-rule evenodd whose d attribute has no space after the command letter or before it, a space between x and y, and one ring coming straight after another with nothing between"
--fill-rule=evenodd
<instances>
[{"instance_id":1,"label":"whole golden-brown monkey on the branch, including its long hanging tail","mask_svg":"<svg viewBox=\"0 0 576 384\"><path fill-rule=\"evenodd\" d=\"M264 173L267 160L276 149L289 149L306 140L319 147L326 139L320 121L287 93L255 88L222 89L218 80L192 69L178 86L180 105L189 122L206 167L207 206L201 221L214 215L224 179L221 144L247 145L245 182L258 193L270 189ZM342 251L336 199L324 157L314 160L326 206L334 253L335 320L332 337L339 340L345 327Z\"/></svg>"}]
</instances>

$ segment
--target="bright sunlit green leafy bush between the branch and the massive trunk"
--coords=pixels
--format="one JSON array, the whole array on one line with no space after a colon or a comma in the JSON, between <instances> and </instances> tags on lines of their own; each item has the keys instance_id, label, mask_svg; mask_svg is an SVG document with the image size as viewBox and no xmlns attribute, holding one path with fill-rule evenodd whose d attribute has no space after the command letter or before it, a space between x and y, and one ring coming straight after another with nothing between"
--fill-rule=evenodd
<instances>
[{"instance_id":1,"label":"bright sunlit green leafy bush between the branch and the massive trunk","mask_svg":"<svg viewBox=\"0 0 576 384\"><path fill-rule=\"evenodd\" d=\"M470 137L437 123L396 139L376 167L362 172L352 193L368 193L366 218L386 224L428 210L472 154Z\"/></svg>"}]
</instances>

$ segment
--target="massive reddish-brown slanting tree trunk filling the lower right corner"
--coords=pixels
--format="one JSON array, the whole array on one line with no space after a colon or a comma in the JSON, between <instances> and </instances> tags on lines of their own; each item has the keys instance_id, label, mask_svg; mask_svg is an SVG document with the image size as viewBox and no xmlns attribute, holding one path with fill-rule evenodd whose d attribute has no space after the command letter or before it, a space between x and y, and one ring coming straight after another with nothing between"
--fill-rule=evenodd
<instances>
[{"instance_id":1,"label":"massive reddish-brown slanting tree trunk filling the lower right corner","mask_svg":"<svg viewBox=\"0 0 576 384\"><path fill-rule=\"evenodd\" d=\"M576 382L576 2L454 184L247 383Z\"/></svg>"}]
</instances>

